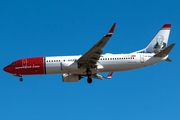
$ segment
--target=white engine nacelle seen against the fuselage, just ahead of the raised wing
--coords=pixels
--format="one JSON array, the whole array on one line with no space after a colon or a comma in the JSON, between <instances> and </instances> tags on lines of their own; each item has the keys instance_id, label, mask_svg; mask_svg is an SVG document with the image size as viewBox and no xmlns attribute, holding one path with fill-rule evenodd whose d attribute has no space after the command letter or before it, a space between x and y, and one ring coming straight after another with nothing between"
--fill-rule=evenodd
<instances>
[{"instance_id":1,"label":"white engine nacelle seen against the fuselage, just ahead of the raised wing","mask_svg":"<svg viewBox=\"0 0 180 120\"><path fill-rule=\"evenodd\" d=\"M76 70L78 69L77 62L62 62L61 63L62 70Z\"/></svg>"}]
</instances>

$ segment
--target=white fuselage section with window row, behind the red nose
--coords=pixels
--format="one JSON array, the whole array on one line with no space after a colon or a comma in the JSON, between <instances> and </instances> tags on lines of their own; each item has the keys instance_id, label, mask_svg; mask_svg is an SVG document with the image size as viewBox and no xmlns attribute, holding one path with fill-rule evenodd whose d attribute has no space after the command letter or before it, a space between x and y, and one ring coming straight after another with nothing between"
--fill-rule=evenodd
<instances>
[{"instance_id":1,"label":"white fuselage section with window row, behind the red nose","mask_svg":"<svg viewBox=\"0 0 180 120\"><path fill-rule=\"evenodd\" d=\"M91 69L91 71L97 73L132 70L164 60L164 58L153 56L154 53L105 54L99 58L97 68ZM81 55L45 57L46 74L70 73L86 75L86 68L76 68L76 61L80 57ZM72 65L73 69L63 68L64 65Z\"/></svg>"}]
</instances>

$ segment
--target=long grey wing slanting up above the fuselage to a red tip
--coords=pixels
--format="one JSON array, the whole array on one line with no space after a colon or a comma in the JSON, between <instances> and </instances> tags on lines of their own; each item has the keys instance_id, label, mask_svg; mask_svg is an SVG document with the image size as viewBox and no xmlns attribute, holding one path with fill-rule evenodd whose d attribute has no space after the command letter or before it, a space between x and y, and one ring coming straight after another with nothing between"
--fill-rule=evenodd
<instances>
[{"instance_id":1,"label":"long grey wing slanting up above the fuselage to a red tip","mask_svg":"<svg viewBox=\"0 0 180 120\"><path fill-rule=\"evenodd\" d=\"M103 52L102 48L106 45L109 38L112 36L115 25L116 23L113 24L109 32L98 43L96 43L88 52L86 52L77 60L80 67L85 65L87 68L96 68L96 63Z\"/></svg>"}]
</instances>

